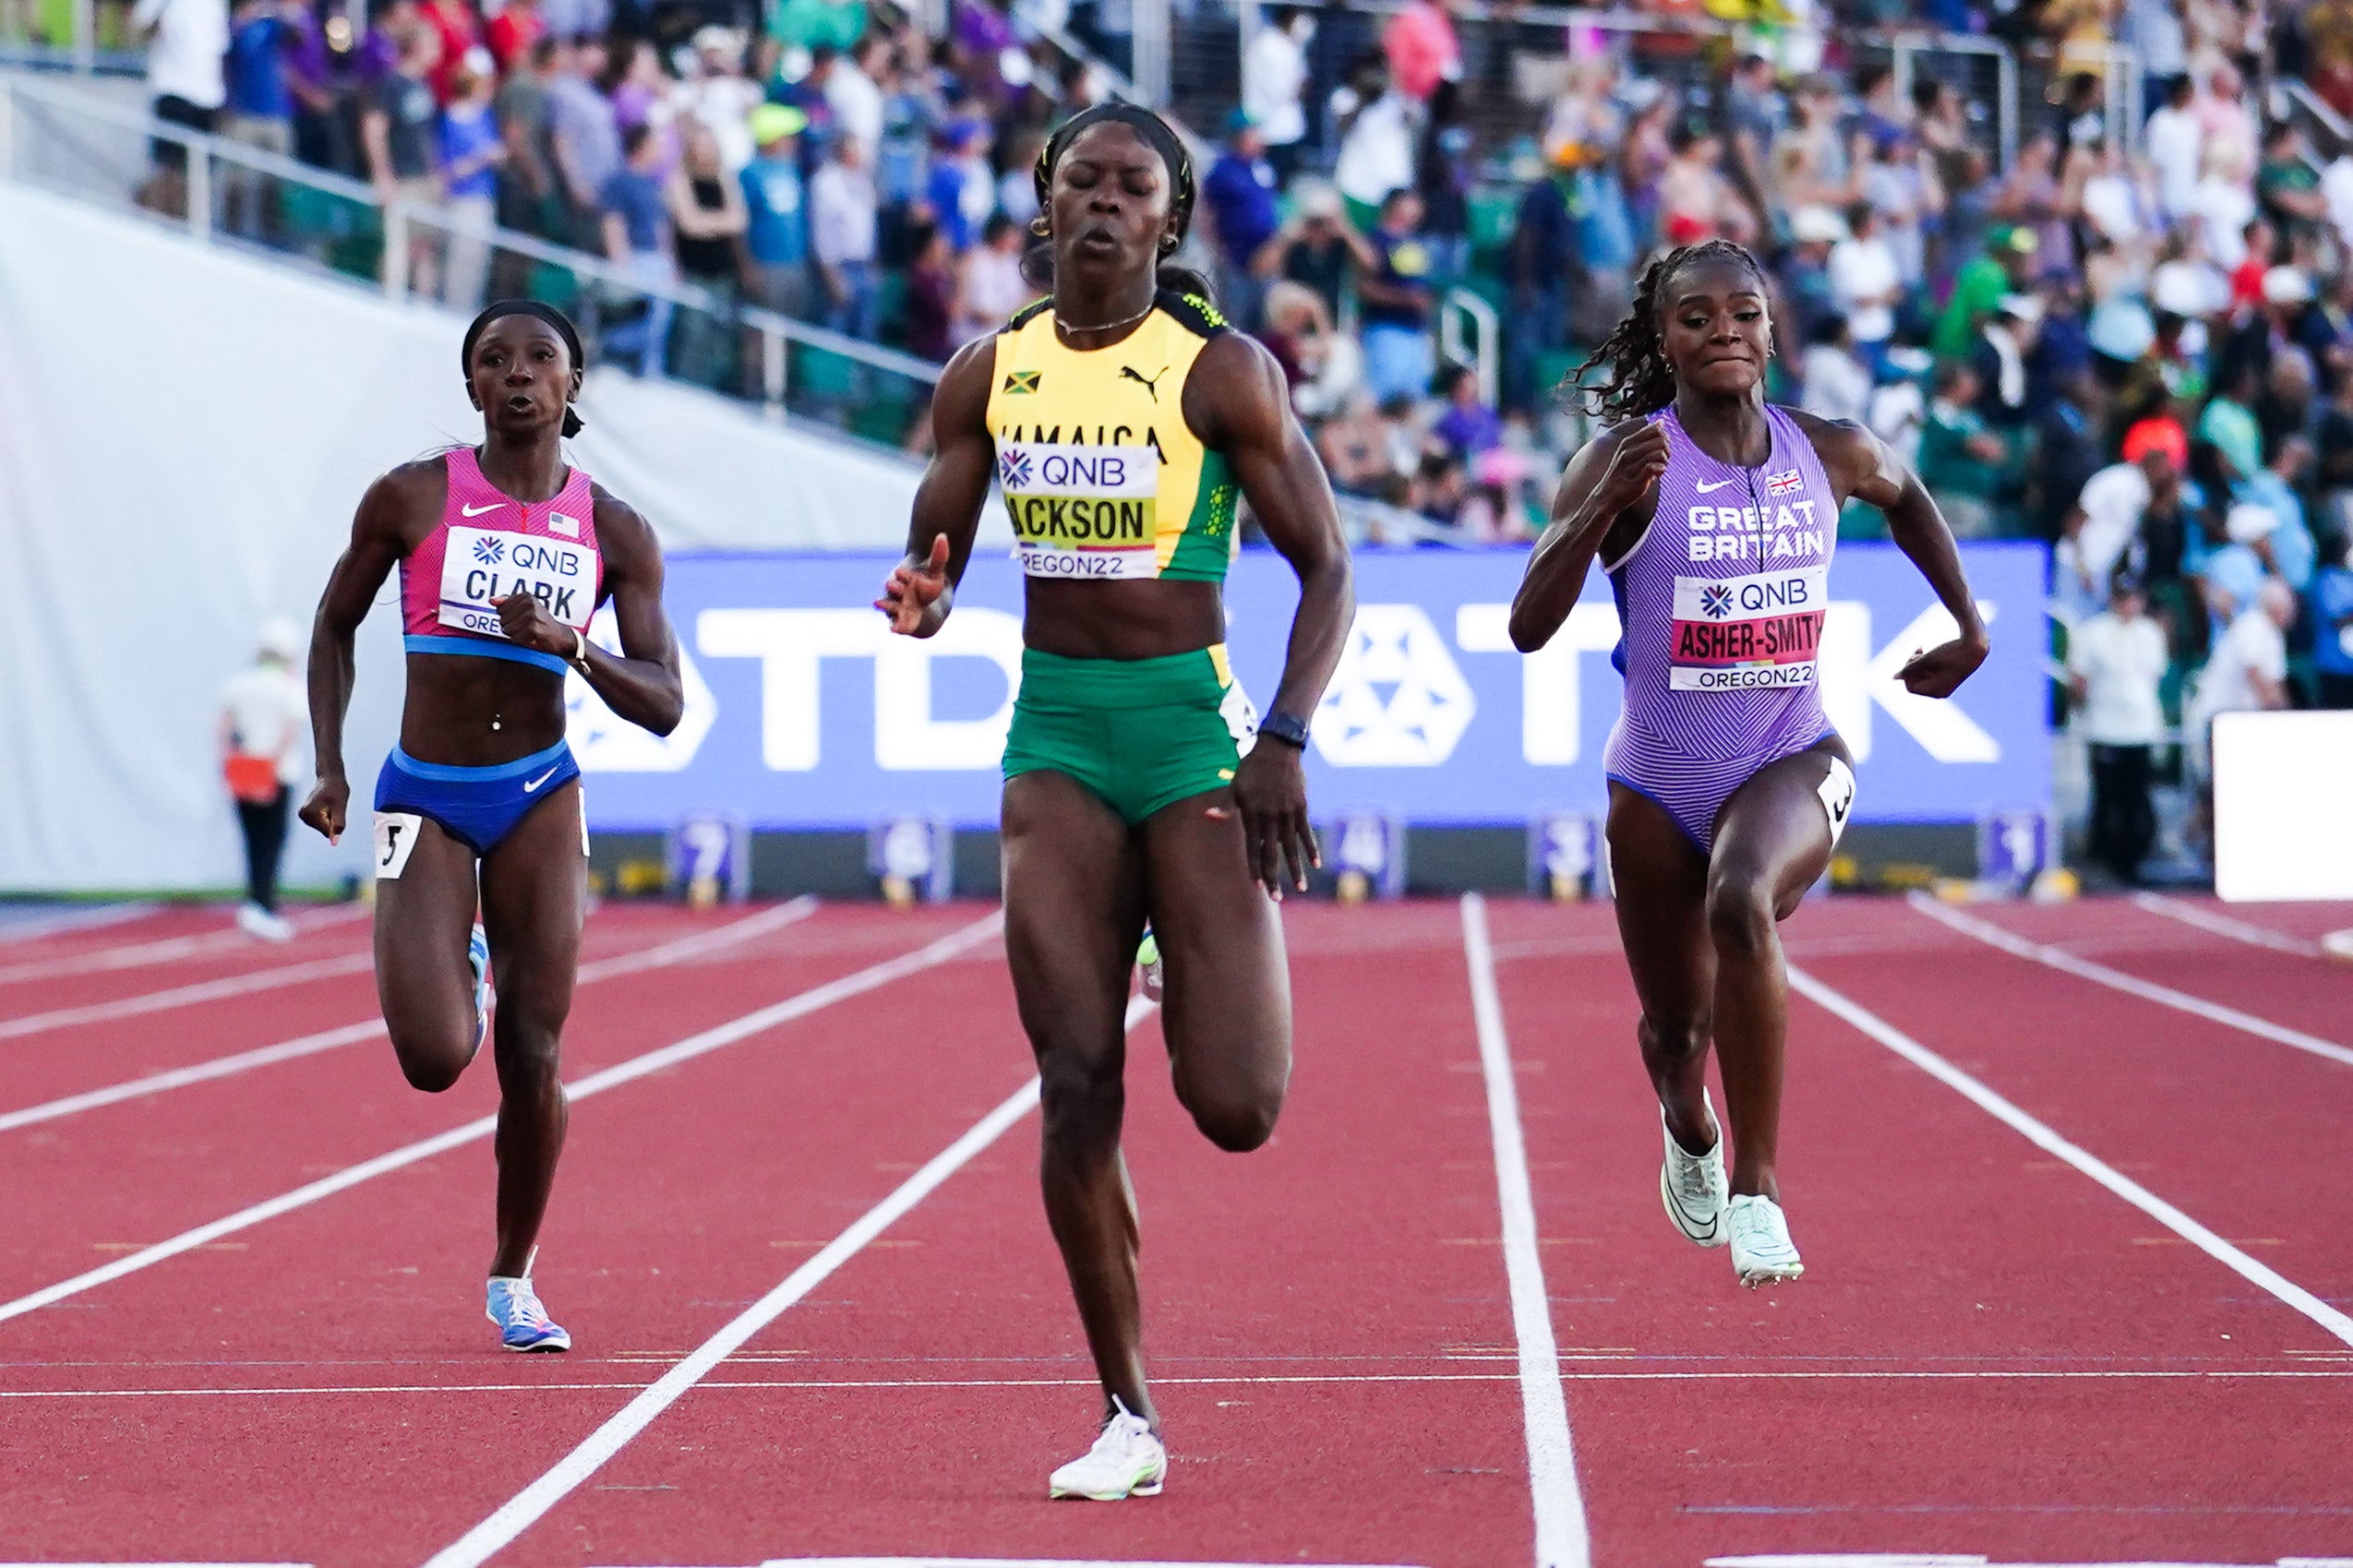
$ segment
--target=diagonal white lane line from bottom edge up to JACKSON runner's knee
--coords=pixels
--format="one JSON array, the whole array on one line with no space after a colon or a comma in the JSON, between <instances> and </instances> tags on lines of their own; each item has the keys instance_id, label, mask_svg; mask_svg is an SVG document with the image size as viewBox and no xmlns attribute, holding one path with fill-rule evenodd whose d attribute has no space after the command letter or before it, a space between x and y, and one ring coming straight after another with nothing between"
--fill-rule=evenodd
<instances>
[{"instance_id":1,"label":"diagonal white lane line from bottom edge up to JACKSON runner's knee","mask_svg":"<svg viewBox=\"0 0 2353 1568\"><path fill-rule=\"evenodd\" d=\"M1153 1013L1153 1001L1127 999L1127 1027L1134 1030ZM934 1154L915 1175L859 1215L849 1229L828 1241L814 1258L784 1276L774 1291L729 1319L715 1335L704 1340L694 1354L666 1371L649 1389L621 1406L602 1427L591 1432L579 1448L555 1462L544 1476L508 1497L499 1509L459 1535L454 1542L426 1559L424 1568L480 1568L518 1535L529 1530L558 1502L572 1495L581 1481L602 1469L605 1460L645 1432L656 1415L678 1403L687 1389L711 1375L711 1371L736 1352L755 1333L784 1316L786 1307L821 1286L835 1269L859 1255L868 1241L889 1229L906 1211L927 1199L944 1180L962 1171L981 1150L1005 1135L1014 1121L1038 1105L1038 1079L1005 1095L995 1110L972 1124L962 1138Z\"/></svg>"}]
</instances>

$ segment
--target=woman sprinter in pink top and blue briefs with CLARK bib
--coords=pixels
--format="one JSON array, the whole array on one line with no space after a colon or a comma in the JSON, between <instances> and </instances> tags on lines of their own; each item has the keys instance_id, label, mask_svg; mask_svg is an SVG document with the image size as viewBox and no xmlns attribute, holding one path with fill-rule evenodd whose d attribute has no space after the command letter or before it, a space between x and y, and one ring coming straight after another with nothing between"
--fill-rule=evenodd
<instances>
[{"instance_id":1,"label":"woman sprinter in pink top and blue briefs with CLARK bib","mask_svg":"<svg viewBox=\"0 0 2353 1568\"><path fill-rule=\"evenodd\" d=\"M508 1349L572 1349L532 1288L565 1145L558 1046L588 865L579 764L565 745L565 670L579 670L624 719L668 733L682 705L678 642L661 614L654 531L567 468L558 447L579 430L572 322L536 301L501 301L466 329L459 362L482 409L482 444L376 480L320 597L311 632L318 790L301 820L327 842L344 832L351 642L398 564L409 691L400 745L376 776L376 997L400 1070L440 1093L489 1032L485 969L496 969L489 1321ZM614 604L624 656L586 637L602 599Z\"/></svg>"}]
</instances>

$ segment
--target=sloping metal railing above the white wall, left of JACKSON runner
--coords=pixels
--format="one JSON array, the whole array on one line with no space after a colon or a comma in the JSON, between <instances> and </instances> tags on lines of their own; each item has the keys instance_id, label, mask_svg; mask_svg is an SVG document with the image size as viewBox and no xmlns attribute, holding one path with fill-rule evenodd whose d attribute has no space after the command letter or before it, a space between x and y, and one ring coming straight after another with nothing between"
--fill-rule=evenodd
<instances>
[{"instance_id":1,"label":"sloping metal railing above the white wall, left of JACKSON runner","mask_svg":"<svg viewBox=\"0 0 2353 1568\"><path fill-rule=\"evenodd\" d=\"M61 82L0 75L0 179L139 209L202 244L273 252L388 299L475 310L529 294L569 310L591 355L920 444L939 364L746 301L499 228L464 212L167 125ZM496 284L492 289L492 284Z\"/></svg>"}]
</instances>

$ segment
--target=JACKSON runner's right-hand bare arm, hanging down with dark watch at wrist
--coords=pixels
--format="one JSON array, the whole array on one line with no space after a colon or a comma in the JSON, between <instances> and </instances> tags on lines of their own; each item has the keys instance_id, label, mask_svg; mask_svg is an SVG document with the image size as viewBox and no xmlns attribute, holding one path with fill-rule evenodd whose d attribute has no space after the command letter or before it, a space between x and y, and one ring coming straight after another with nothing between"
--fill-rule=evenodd
<instances>
[{"instance_id":1,"label":"JACKSON runner's right-hand bare arm, hanging down with dark watch at wrist","mask_svg":"<svg viewBox=\"0 0 2353 1568\"><path fill-rule=\"evenodd\" d=\"M1306 722L1322 703L1355 623L1355 576L1339 531L1332 482L1292 416L1282 367L1240 331L1209 339L1184 388L1184 418L1212 451L1224 451L1266 541L1299 574L1299 611L1273 712ZM1308 780L1299 748L1261 741L1233 773L1242 842L1268 893L1280 898L1282 863L1301 891L1322 865L1308 825Z\"/></svg>"}]
</instances>

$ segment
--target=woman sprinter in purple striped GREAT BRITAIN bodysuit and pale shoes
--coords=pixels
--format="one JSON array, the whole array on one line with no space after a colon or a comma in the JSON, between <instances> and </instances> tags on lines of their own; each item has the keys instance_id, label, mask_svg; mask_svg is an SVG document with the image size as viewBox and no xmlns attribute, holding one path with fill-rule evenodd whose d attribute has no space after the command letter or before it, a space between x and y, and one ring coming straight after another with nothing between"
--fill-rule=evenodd
<instances>
[{"instance_id":1,"label":"woman sprinter in purple striped GREAT BRITAIN bodysuit and pale shoes","mask_svg":"<svg viewBox=\"0 0 2353 1568\"><path fill-rule=\"evenodd\" d=\"M1838 508L1859 496L1960 635L1899 670L1951 696L1986 658L1953 534L1901 458L1861 425L1767 407L1765 270L1711 240L1654 261L1602 367L1614 418L1569 458L1527 562L1511 639L1534 651L1598 555L1617 590L1626 705L1609 733L1609 865L1659 1091L1659 1194L1699 1246L1732 1244L1746 1286L1798 1279L1774 1157L1788 973L1777 922L1831 863L1854 804L1847 745L1814 656ZM1732 1175L1708 1105L1708 1039L1732 1112Z\"/></svg>"}]
</instances>

